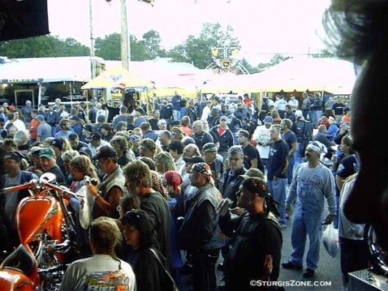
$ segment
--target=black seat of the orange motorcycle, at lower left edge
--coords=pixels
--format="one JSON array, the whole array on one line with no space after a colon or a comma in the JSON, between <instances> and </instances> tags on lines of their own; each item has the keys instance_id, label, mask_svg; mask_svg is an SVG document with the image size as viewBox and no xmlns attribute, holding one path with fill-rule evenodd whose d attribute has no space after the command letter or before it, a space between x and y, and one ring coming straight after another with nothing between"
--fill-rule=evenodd
<instances>
[{"instance_id":1,"label":"black seat of the orange motorcycle, at lower left edge","mask_svg":"<svg viewBox=\"0 0 388 291\"><path fill-rule=\"evenodd\" d=\"M29 276L34 268L36 262L33 256L28 252L24 245L19 245L8 257L6 257L1 264L1 269L16 269Z\"/></svg>"}]
</instances>

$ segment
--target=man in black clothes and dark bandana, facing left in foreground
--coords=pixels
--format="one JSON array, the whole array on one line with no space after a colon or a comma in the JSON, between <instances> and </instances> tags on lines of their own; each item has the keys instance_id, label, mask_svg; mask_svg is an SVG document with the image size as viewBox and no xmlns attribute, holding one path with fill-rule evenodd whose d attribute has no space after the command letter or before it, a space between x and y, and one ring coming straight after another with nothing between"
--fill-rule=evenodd
<instances>
[{"instance_id":1,"label":"man in black clothes and dark bandana, facing left in foreground","mask_svg":"<svg viewBox=\"0 0 388 291\"><path fill-rule=\"evenodd\" d=\"M243 215L232 215L227 203L219 209L222 233L234 238L224 260L225 290L252 290L252 278L266 282L279 278L283 243L275 217L279 212L259 177L246 176L236 195L238 206L246 210Z\"/></svg>"}]
</instances>

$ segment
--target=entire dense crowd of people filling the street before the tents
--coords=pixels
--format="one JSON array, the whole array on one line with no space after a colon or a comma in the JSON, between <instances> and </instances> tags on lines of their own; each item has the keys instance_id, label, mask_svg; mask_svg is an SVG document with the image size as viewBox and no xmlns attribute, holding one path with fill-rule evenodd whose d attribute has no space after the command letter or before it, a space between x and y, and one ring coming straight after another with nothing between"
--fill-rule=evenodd
<instances>
[{"instance_id":1,"label":"entire dense crowd of people filling the street before the tents","mask_svg":"<svg viewBox=\"0 0 388 291\"><path fill-rule=\"evenodd\" d=\"M267 99L259 111L247 94L236 104L214 96L186 102L176 94L172 103L157 103L152 116L141 106L129 112L125 105L112 116L103 100L88 112L85 103L67 112L60 100L39 110L30 102L21 109L3 106L5 186L42 173L53 173L75 193L87 186L94 222L86 228L80 223L80 201L64 197L76 215L81 260L69 267L63 290L90 285L100 272L133 288L136 281L137 290L160 290L165 272L178 288L182 274L191 274L194 290L244 290L251 287L249 278L276 281L281 265L301 270L306 236L310 246L303 276L312 278L322 222L334 220L340 228L351 224L341 218L339 197L346 178L357 172L358 159L345 106L340 112L333 105L333 114L320 114L319 120L309 112L306 119L295 96L285 99ZM319 162L324 155L333 168ZM8 251L18 244L14 220L23 197L26 193L17 193L1 202L2 223L12 238L2 246ZM281 264L281 230L291 217L293 252ZM111 224L109 238L98 233ZM360 228L357 237L344 229L341 235L343 252L349 254L354 247L349 240L360 240ZM114 248L117 240L123 240L120 250ZM367 252L365 245L358 248ZM95 267L95 261L105 263ZM117 264L119 274L112 273ZM343 263L345 285L346 273L364 264ZM216 268L224 285L217 286Z\"/></svg>"}]
</instances>

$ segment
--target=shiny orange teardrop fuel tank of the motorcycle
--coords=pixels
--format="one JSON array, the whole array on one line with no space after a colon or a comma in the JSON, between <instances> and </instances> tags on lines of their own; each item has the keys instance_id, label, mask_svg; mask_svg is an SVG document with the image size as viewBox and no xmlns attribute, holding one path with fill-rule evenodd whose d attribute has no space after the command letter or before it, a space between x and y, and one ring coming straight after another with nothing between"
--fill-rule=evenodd
<instances>
[{"instance_id":1,"label":"shiny orange teardrop fuel tank of the motorcycle","mask_svg":"<svg viewBox=\"0 0 388 291\"><path fill-rule=\"evenodd\" d=\"M58 211L60 208L55 198L50 196L36 195L21 200L16 212L20 243L30 243L37 233L51 226L57 218Z\"/></svg>"}]
</instances>

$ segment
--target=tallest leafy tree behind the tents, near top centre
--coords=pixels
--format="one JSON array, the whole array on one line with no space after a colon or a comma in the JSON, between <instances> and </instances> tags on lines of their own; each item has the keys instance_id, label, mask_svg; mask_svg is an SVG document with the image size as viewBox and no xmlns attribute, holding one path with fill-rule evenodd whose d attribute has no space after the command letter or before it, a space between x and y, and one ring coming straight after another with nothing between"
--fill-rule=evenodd
<instances>
[{"instance_id":1,"label":"tallest leafy tree behind the tents, near top centre","mask_svg":"<svg viewBox=\"0 0 388 291\"><path fill-rule=\"evenodd\" d=\"M240 42L233 36L233 28L222 30L220 24L206 22L202 24L200 35L189 35L184 44L179 44L168 51L167 56L174 62L192 62L195 67L205 69L213 62L213 48L238 47ZM227 55L229 57L230 55ZM223 57L223 55L220 55Z\"/></svg>"}]
</instances>

